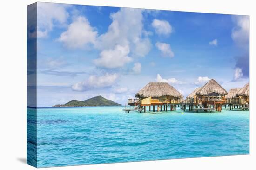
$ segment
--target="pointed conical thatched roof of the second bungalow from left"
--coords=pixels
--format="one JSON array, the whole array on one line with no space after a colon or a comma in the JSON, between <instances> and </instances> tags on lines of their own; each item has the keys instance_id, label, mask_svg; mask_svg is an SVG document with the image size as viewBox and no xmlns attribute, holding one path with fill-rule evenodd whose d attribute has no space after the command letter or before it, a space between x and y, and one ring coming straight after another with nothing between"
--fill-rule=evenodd
<instances>
[{"instance_id":1,"label":"pointed conical thatched roof of the second bungalow from left","mask_svg":"<svg viewBox=\"0 0 256 170\"><path fill-rule=\"evenodd\" d=\"M209 95L211 93L217 93L220 95L226 95L228 92L221 87L219 83L217 83L214 79L209 80L198 92L196 95Z\"/></svg>"}]
</instances>

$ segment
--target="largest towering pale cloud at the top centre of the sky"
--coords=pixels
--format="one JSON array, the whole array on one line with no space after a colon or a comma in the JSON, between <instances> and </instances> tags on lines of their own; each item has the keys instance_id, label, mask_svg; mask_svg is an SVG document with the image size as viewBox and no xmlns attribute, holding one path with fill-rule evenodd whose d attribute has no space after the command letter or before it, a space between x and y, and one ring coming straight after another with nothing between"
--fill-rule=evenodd
<instances>
[{"instance_id":1,"label":"largest towering pale cloud at the top centre of the sky","mask_svg":"<svg viewBox=\"0 0 256 170\"><path fill-rule=\"evenodd\" d=\"M134 56L144 57L151 49L147 31L143 29L143 10L134 8L121 8L112 13L111 25L108 31L101 34L96 43L100 50L113 50L117 45L128 46Z\"/></svg>"}]
</instances>

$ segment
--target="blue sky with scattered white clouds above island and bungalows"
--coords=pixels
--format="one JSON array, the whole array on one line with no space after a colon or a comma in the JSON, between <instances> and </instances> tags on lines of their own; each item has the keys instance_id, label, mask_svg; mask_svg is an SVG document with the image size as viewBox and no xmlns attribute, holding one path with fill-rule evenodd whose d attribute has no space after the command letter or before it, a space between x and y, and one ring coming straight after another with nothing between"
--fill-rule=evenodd
<instances>
[{"instance_id":1,"label":"blue sky with scattered white clouds above island and bungalows","mask_svg":"<svg viewBox=\"0 0 256 170\"><path fill-rule=\"evenodd\" d=\"M249 82L249 16L38 3L38 107L102 95L125 104L148 82L184 97L214 78Z\"/></svg>"}]
</instances>

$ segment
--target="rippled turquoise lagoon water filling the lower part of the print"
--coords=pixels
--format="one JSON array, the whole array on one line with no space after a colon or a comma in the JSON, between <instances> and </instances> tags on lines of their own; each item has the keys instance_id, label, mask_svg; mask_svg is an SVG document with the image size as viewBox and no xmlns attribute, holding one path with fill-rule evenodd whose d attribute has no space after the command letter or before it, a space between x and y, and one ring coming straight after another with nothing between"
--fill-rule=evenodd
<instances>
[{"instance_id":1,"label":"rippled turquoise lagoon water filling the lower part of the print","mask_svg":"<svg viewBox=\"0 0 256 170\"><path fill-rule=\"evenodd\" d=\"M249 111L124 113L123 108L37 109L37 142L29 146L37 145L37 166L249 154Z\"/></svg>"}]
</instances>

